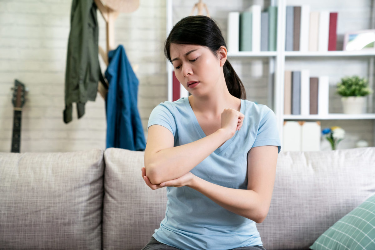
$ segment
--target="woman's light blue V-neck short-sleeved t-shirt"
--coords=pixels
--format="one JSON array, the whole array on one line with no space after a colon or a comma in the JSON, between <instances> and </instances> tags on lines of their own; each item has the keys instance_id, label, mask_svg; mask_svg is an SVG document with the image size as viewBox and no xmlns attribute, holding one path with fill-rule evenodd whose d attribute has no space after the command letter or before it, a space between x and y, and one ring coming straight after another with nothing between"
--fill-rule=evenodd
<instances>
[{"instance_id":1,"label":"woman's light blue V-neck short-sleeved t-shirt","mask_svg":"<svg viewBox=\"0 0 375 250\"><path fill-rule=\"evenodd\" d=\"M279 132L272 109L241 100L240 112L245 115L241 129L190 172L220 186L247 189L249 150L275 145L280 152ZM155 124L172 132L174 146L205 137L187 97L156 106L150 114L148 127ZM157 241L183 250L227 250L263 245L254 221L226 210L190 187L166 189L165 218L153 234Z\"/></svg>"}]
</instances>

